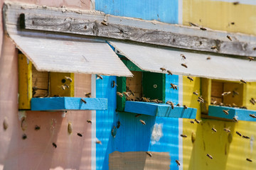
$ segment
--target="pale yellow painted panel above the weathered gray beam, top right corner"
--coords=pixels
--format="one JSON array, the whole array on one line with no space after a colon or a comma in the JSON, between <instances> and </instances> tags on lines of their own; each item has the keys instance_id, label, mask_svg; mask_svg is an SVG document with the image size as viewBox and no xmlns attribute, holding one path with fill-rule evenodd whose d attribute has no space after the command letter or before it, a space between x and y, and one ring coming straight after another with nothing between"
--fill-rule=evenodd
<instances>
[{"instance_id":1,"label":"pale yellow painted panel above the weathered gray beam, top right corner","mask_svg":"<svg viewBox=\"0 0 256 170\"><path fill-rule=\"evenodd\" d=\"M256 6L232 2L183 0L183 25L191 22L213 30L256 35Z\"/></svg>"}]
</instances>

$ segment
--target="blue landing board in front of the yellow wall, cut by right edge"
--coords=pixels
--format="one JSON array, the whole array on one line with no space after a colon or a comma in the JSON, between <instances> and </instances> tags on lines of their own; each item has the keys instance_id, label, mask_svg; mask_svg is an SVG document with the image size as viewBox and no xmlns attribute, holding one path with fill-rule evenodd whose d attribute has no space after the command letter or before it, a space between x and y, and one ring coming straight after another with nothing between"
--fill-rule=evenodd
<instances>
[{"instance_id":1,"label":"blue landing board in front of the yellow wall, cut by right edge","mask_svg":"<svg viewBox=\"0 0 256 170\"><path fill-rule=\"evenodd\" d=\"M223 110L228 111L228 115L226 115ZM230 108L223 106L209 106L208 115L215 118L225 118L228 120L233 120L233 118L237 118L238 120L252 121L255 122L256 118L250 117L250 114L256 115L256 111L251 111L242 108Z\"/></svg>"}]
</instances>

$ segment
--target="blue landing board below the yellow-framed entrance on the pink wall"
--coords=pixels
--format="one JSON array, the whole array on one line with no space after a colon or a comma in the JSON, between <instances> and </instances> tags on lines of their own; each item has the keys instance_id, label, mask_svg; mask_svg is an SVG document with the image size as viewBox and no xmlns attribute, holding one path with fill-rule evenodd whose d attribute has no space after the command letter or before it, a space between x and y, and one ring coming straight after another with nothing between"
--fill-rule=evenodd
<instances>
[{"instance_id":1,"label":"blue landing board below the yellow-framed entrance on the pink wall","mask_svg":"<svg viewBox=\"0 0 256 170\"><path fill-rule=\"evenodd\" d=\"M107 98L31 98L31 111L107 110Z\"/></svg>"}]
</instances>

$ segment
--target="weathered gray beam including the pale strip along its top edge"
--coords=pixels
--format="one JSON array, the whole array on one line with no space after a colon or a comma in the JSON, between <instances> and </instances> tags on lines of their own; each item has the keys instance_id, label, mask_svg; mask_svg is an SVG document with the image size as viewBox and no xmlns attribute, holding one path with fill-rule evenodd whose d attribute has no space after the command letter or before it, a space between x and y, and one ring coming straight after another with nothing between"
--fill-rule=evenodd
<instances>
[{"instance_id":1,"label":"weathered gray beam including the pale strip along its top edge","mask_svg":"<svg viewBox=\"0 0 256 170\"><path fill-rule=\"evenodd\" d=\"M17 6L18 4L9 8L18 8ZM110 16L99 12L71 11L67 8L38 6L21 6L21 8L23 10L20 12L19 21L21 28L25 30L91 35L224 55L256 57L256 51L253 50L256 47L256 37L252 35L201 30L158 21ZM228 40L227 35L233 40ZM211 49L213 46L216 46L215 50Z\"/></svg>"}]
</instances>

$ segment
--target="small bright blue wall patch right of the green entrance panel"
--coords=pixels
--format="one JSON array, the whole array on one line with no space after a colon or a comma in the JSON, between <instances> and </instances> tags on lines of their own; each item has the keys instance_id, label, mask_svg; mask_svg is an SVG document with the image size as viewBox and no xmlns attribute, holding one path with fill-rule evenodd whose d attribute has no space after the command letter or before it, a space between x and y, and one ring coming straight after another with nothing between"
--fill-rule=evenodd
<instances>
[{"instance_id":1,"label":"small bright blue wall patch right of the green entrance panel","mask_svg":"<svg viewBox=\"0 0 256 170\"><path fill-rule=\"evenodd\" d=\"M172 101L174 104L178 104L178 90L171 89L171 83L178 85L178 75L166 74L166 95L165 101ZM182 86L182 84L181 84ZM177 86L178 87L178 86Z\"/></svg>"}]
</instances>

